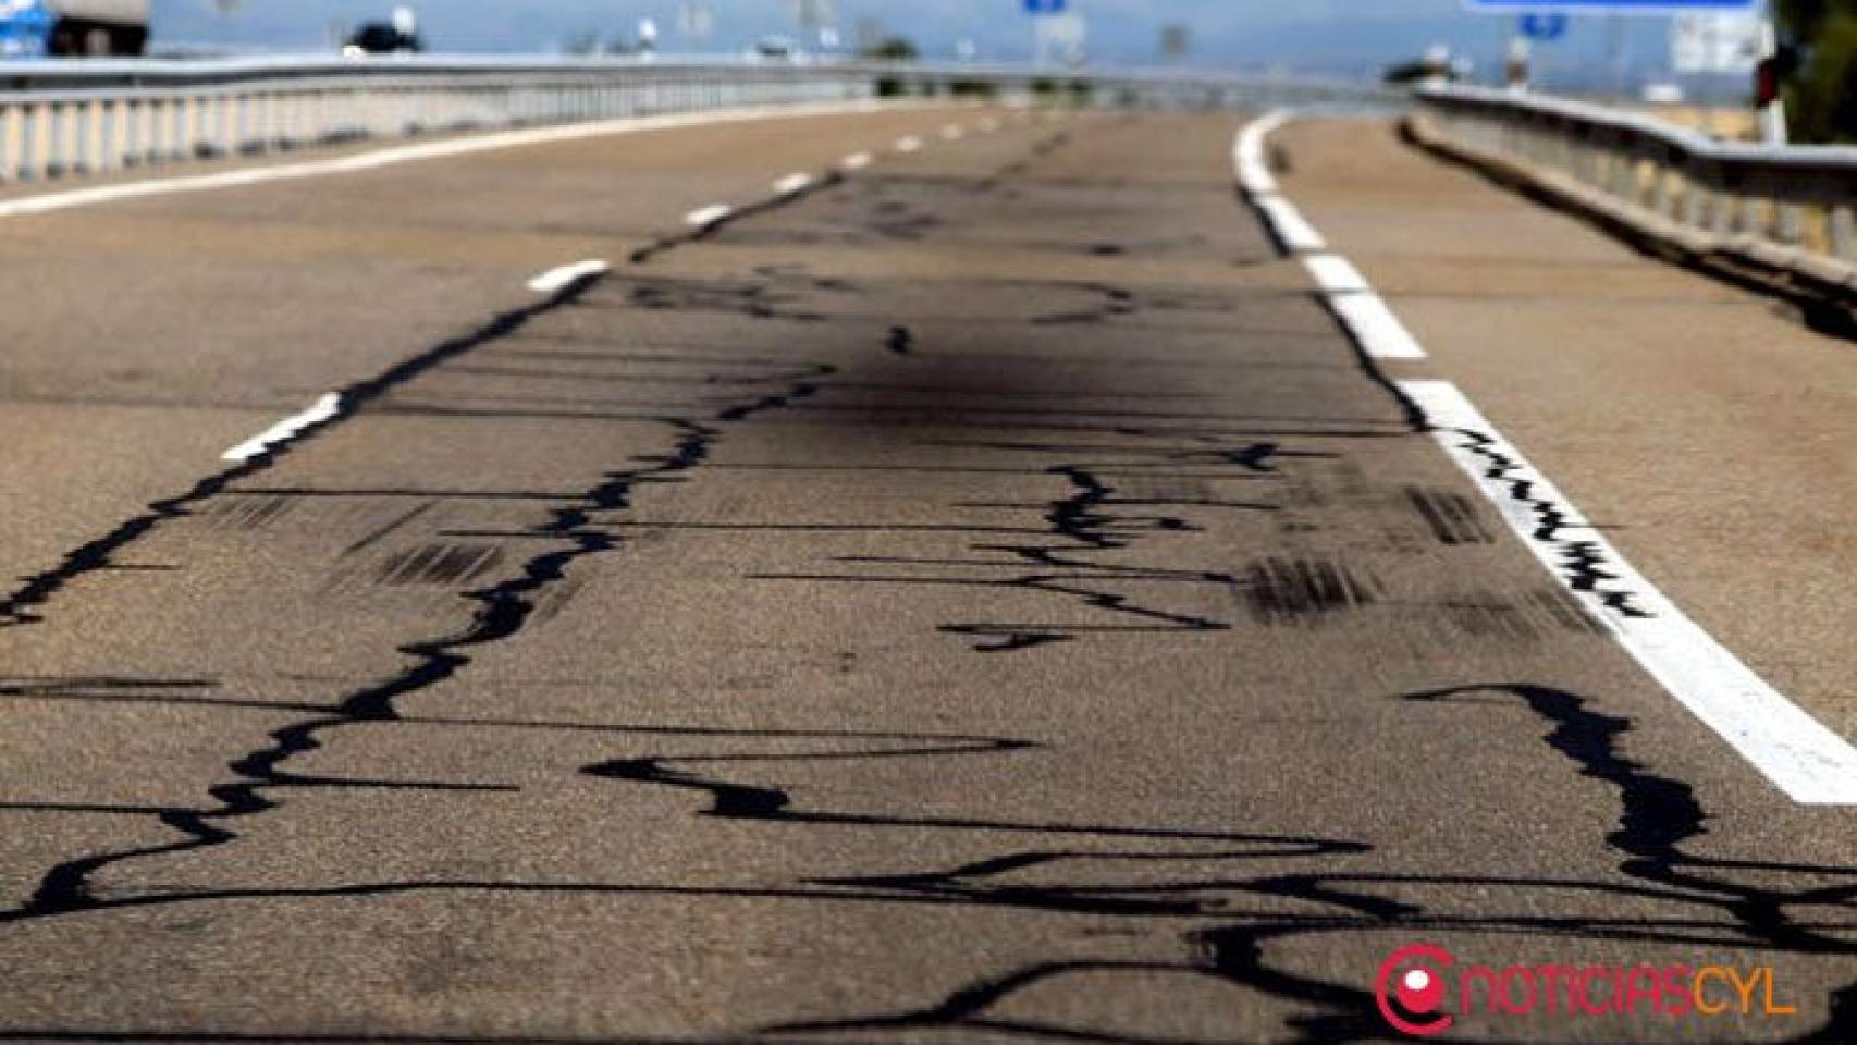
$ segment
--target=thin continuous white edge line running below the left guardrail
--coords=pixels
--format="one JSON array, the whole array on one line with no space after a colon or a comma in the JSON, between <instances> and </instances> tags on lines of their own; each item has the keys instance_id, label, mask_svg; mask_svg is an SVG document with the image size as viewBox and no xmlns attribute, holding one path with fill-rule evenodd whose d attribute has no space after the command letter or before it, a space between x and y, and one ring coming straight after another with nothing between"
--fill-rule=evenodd
<instances>
[{"instance_id":1,"label":"thin continuous white edge line running below the left guardrail","mask_svg":"<svg viewBox=\"0 0 1857 1045\"><path fill-rule=\"evenodd\" d=\"M230 189L241 186L258 186L266 182L288 182L297 178L321 178L331 174L353 174L360 171L379 171L383 167L397 167L401 163L418 163L423 160L444 160L453 156L472 156L475 152L496 152L501 148L522 148L529 145L550 145L557 141L579 141L587 137L609 137L622 134L644 134L652 130L676 130L689 126L719 124L719 123L745 123L745 121L763 121L763 119L795 119L795 117L817 117L817 115L836 115L836 113L860 113L875 111L882 104L865 98L860 102L823 102L806 106L782 106L782 108L741 108L741 110L713 110L704 113L672 113L659 117L624 117L611 121L596 121L568 126L542 126L527 130L509 130L496 134L479 134L470 137L457 137L451 141L433 141L422 145L394 145L384 148L373 148L368 152L357 152L353 156L338 156L332 160L310 160L305 163L280 163L275 167L253 167L249 171L221 171L215 174L186 174L178 178L154 178L147 182L124 182L119 186L95 186L87 189L71 189L63 193L45 193L37 197L22 197L15 200L0 200L0 217L22 217L32 213L50 213L56 210L72 210L80 206L95 206L104 202L163 197L178 193L201 193L212 189Z\"/></svg>"}]
</instances>

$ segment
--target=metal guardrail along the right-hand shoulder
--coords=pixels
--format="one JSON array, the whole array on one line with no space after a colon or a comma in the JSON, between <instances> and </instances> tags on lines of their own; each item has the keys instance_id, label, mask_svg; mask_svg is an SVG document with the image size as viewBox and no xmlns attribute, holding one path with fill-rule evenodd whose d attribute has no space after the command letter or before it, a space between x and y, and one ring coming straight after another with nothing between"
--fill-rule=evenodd
<instances>
[{"instance_id":1,"label":"metal guardrail along the right-hand shoulder","mask_svg":"<svg viewBox=\"0 0 1857 1045\"><path fill-rule=\"evenodd\" d=\"M1697 239L1857 264L1857 148L1716 141L1640 113L1489 87L1428 85L1417 100L1445 141L1571 176Z\"/></svg>"}]
</instances>

